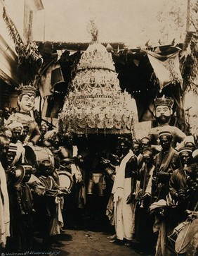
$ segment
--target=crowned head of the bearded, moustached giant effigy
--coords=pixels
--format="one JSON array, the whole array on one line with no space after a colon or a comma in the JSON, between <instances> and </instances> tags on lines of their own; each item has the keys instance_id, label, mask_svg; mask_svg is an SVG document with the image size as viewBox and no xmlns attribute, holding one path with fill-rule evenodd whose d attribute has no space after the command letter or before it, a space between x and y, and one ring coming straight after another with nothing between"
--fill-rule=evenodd
<instances>
[{"instance_id":1,"label":"crowned head of the bearded, moustached giant effigy","mask_svg":"<svg viewBox=\"0 0 198 256\"><path fill-rule=\"evenodd\" d=\"M169 123L171 114L173 114L173 99L171 97L163 97L154 99L154 116L159 124Z\"/></svg>"}]
</instances>

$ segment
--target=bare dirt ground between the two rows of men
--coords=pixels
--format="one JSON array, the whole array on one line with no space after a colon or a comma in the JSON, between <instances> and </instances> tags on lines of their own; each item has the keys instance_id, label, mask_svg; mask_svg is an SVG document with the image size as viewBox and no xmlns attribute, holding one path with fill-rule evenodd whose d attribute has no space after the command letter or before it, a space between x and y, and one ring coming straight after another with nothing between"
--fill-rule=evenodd
<instances>
[{"instance_id":1,"label":"bare dirt ground between the two rows of men","mask_svg":"<svg viewBox=\"0 0 198 256\"><path fill-rule=\"evenodd\" d=\"M67 230L62 235L63 246L52 250L51 255L56 256L139 256L132 248L126 245L116 245L107 239L107 233L94 231Z\"/></svg>"}]
</instances>

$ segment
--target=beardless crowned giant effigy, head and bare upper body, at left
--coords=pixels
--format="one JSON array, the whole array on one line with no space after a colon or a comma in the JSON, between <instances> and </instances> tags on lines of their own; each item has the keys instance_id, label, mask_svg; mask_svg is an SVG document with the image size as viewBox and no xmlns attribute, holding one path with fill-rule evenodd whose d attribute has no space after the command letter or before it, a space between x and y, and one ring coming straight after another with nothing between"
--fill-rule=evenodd
<instances>
[{"instance_id":1,"label":"beardless crowned giant effigy, head and bare upper body, at left","mask_svg":"<svg viewBox=\"0 0 198 256\"><path fill-rule=\"evenodd\" d=\"M29 126L26 142L35 145L41 137L39 126L34 119L32 111L37 89L32 85L20 85L16 90L18 90L18 106L20 110L8 118L7 126L14 121L22 123L23 126Z\"/></svg>"}]
</instances>

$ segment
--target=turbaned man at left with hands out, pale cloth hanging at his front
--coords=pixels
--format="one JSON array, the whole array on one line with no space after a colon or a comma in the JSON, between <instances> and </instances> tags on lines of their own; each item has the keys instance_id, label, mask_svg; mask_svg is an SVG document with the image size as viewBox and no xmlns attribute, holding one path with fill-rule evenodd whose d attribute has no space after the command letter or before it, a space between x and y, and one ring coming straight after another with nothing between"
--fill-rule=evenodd
<instances>
[{"instance_id":1,"label":"turbaned man at left with hands out, pale cloth hanging at his front","mask_svg":"<svg viewBox=\"0 0 198 256\"><path fill-rule=\"evenodd\" d=\"M46 192L43 196L37 197L37 213L41 220L40 228L44 246L55 243L53 236L61 233L63 226L61 197L70 193L67 188L62 188L55 183L52 172L51 161L46 159L40 162L38 169L39 181L46 188Z\"/></svg>"}]
</instances>

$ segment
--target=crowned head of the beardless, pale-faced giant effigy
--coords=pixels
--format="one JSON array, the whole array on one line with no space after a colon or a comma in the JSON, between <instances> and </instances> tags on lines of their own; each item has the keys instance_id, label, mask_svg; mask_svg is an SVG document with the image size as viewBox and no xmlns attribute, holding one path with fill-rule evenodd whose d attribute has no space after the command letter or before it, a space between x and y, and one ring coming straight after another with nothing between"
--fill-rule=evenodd
<instances>
[{"instance_id":1,"label":"crowned head of the beardless, pale-faced giant effigy","mask_svg":"<svg viewBox=\"0 0 198 256\"><path fill-rule=\"evenodd\" d=\"M18 106L21 112L29 112L34 108L36 88L32 85L20 85L16 90L19 92Z\"/></svg>"}]
</instances>

